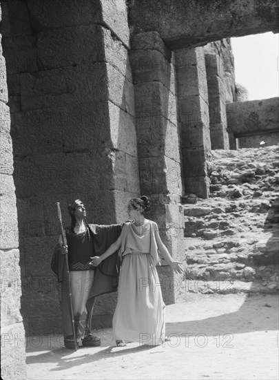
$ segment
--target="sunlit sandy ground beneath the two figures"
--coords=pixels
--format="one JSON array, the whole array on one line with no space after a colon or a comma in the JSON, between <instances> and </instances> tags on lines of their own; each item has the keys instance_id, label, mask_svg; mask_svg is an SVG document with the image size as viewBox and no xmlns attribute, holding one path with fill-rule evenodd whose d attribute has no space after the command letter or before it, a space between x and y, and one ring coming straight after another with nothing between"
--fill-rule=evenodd
<instances>
[{"instance_id":1,"label":"sunlit sandy ground beneath the two figures","mask_svg":"<svg viewBox=\"0 0 279 380\"><path fill-rule=\"evenodd\" d=\"M171 341L63 348L57 335L27 340L28 379L278 379L278 294L183 294L166 307ZM60 343L61 339L61 343Z\"/></svg>"}]
</instances>

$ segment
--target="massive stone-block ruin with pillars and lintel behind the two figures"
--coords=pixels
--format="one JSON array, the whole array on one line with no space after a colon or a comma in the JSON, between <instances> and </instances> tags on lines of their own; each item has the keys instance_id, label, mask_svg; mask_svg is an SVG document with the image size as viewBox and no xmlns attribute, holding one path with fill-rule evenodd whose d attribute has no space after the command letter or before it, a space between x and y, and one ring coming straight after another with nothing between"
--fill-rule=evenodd
<instances>
[{"instance_id":1,"label":"massive stone-block ruin with pillars and lintel behind the two figures","mask_svg":"<svg viewBox=\"0 0 279 380\"><path fill-rule=\"evenodd\" d=\"M2 2L2 368L14 378L25 371L23 345L14 350L14 337L24 338L21 315L26 334L61 331L50 271L55 202L67 218L67 203L82 198L89 222L114 223L127 218L129 198L145 193L164 243L183 254L180 197L207 198L211 149L229 149L223 111L234 74L230 59L219 59L227 37L276 28L272 0L247 0L248 13L215 3L197 13L194 0L182 12L185 2L169 0L164 9L157 0L128 8L122 0ZM176 276L166 265L158 272L172 303ZM110 324L114 305L113 295L99 299L97 326Z\"/></svg>"}]
</instances>

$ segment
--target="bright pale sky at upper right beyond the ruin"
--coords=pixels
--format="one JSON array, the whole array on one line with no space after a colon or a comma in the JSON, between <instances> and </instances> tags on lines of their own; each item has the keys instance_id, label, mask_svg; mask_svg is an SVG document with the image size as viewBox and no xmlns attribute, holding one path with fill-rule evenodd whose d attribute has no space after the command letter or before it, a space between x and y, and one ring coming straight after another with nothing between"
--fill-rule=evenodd
<instances>
[{"instance_id":1,"label":"bright pale sky at upper right beyond the ruin","mask_svg":"<svg viewBox=\"0 0 279 380\"><path fill-rule=\"evenodd\" d=\"M236 83L248 90L248 100L279 96L279 35L231 38Z\"/></svg>"}]
</instances>

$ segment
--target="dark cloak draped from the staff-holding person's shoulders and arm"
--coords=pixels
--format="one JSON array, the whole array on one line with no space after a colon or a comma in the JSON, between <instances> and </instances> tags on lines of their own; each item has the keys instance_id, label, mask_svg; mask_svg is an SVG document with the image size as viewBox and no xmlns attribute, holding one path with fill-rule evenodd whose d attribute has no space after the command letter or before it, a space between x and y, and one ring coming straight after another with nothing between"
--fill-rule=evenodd
<instances>
[{"instance_id":1,"label":"dark cloak draped from the staff-holding person's shoulders and arm","mask_svg":"<svg viewBox=\"0 0 279 380\"><path fill-rule=\"evenodd\" d=\"M88 256L101 256L121 234L122 225L88 225L90 236L93 238L93 251L88 252ZM61 246L54 247L51 268L56 274L59 283L61 314L64 335L73 335L72 319L70 312L70 285L68 282L66 260L67 255L61 253ZM118 251L103 260L95 267L94 281L89 289L90 297L86 303L87 316L90 315L96 296L101 294L116 292L118 287L120 261ZM89 327L91 321L88 321Z\"/></svg>"}]
</instances>

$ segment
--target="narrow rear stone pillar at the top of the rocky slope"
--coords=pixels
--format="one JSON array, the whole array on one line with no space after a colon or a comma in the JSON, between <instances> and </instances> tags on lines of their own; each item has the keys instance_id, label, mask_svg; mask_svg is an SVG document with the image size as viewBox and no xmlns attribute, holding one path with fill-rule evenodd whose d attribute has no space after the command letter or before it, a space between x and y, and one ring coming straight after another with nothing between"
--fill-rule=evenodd
<instances>
[{"instance_id":1,"label":"narrow rear stone pillar at the top of the rocky slope","mask_svg":"<svg viewBox=\"0 0 279 380\"><path fill-rule=\"evenodd\" d=\"M225 102L225 71L222 59L205 54L212 149L229 149Z\"/></svg>"}]
</instances>

